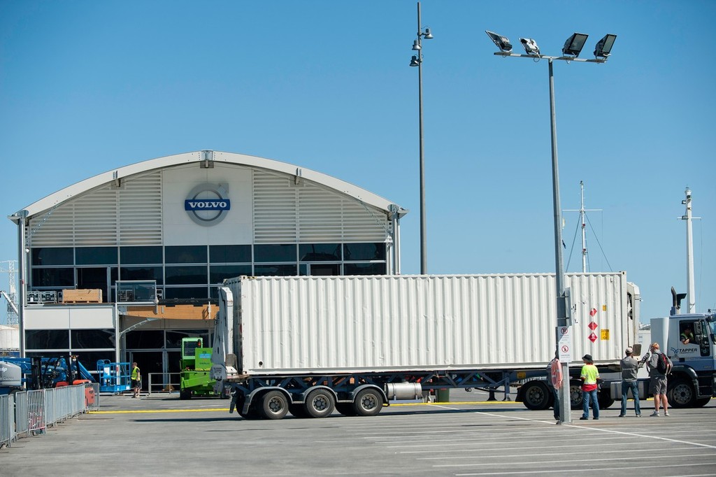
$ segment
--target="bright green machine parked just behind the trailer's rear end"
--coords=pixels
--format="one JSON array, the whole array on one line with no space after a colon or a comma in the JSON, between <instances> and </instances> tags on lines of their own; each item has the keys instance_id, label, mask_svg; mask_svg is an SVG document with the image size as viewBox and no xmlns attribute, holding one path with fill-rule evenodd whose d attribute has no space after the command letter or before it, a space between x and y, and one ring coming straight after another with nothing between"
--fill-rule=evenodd
<instances>
[{"instance_id":1,"label":"bright green machine parked just behind the trailer's rear end","mask_svg":"<svg viewBox=\"0 0 716 477\"><path fill-rule=\"evenodd\" d=\"M214 384L209 377L211 348L202 346L201 338L182 338L181 376L179 399L194 396L216 396Z\"/></svg>"}]
</instances>

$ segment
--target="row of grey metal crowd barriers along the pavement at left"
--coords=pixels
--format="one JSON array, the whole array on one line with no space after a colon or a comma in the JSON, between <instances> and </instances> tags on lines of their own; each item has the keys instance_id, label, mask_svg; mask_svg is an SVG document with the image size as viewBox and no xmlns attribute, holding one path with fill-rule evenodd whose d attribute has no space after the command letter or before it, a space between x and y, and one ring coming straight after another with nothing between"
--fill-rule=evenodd
<instances>
[{"instance_id":1,"label":"row of grey metal crowd barriers along the pavement at left","mask_svg":"<svg viewBox=\"0 0 716 477\"><path fill-rule=\"evenodd\" d=\"M100 408L100 385L55 387L0 396L0 447Z\"/></svg>"}]
</instances>

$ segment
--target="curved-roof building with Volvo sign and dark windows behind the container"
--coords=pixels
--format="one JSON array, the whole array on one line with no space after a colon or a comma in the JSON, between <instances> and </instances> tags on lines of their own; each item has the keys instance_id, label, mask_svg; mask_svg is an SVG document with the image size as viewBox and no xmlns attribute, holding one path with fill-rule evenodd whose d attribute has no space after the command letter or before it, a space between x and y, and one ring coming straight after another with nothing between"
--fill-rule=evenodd
<instances>
[{"instance_id":1,"label":"curved-roof building with Volvo sign and dark windows behind the container","mask_svg":"<svg viewBox=\"0 0 716 477\"><path fill-rule=\"evenodd\" d=\"M204 305L233 276L400 273L405 213L344 180L250 155L201 150L109 170L9 217L29 251L19 267L26 348L97 357L114 342L118 356L124 337L131 353L129 328L151 316L160 323L142 329L178 329L172 319L183 318L205 333L193 320L211 318ZM124 304L137 291L125 284L147 282L151 316ZM178 304L202 311L172 313ZM118 311L90 318L88 307Z\"/></svg>"}]
</instances>

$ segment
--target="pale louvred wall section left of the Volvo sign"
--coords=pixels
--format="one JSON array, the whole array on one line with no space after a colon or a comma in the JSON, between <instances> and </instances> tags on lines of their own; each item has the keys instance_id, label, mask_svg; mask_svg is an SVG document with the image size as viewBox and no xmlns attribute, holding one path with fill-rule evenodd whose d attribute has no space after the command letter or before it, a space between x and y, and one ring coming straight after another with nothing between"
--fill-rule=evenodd
<instances>
[{"instance_id":1,"label":"pale louvred wall section left of the Volvo sign","mask_svg":"<svg viewBox=\"0 0 716 477\"><path fill-rule=\"evenodd\" d=\"M161 174L122 180L62 203L29 222L29 246L162 243Z\"/></svg>"}]
</instances>

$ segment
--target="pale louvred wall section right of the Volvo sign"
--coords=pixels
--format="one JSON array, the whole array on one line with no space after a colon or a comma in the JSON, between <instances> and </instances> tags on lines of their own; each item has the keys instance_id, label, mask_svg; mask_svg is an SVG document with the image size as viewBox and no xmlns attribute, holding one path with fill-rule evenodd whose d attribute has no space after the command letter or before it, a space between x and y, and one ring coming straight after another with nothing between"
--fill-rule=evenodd
<instances>
[{"instance_id":1,"label":"pale louvred wall section right of the Volvo sign","mask_svg":"<svg viewBox=\"0 0 716 477\"><path fill-rule=\"evenodd\" d=\"M299 178L253 173L256 244L384 241L384 212Z\"/></svg>"}]
</instances>

